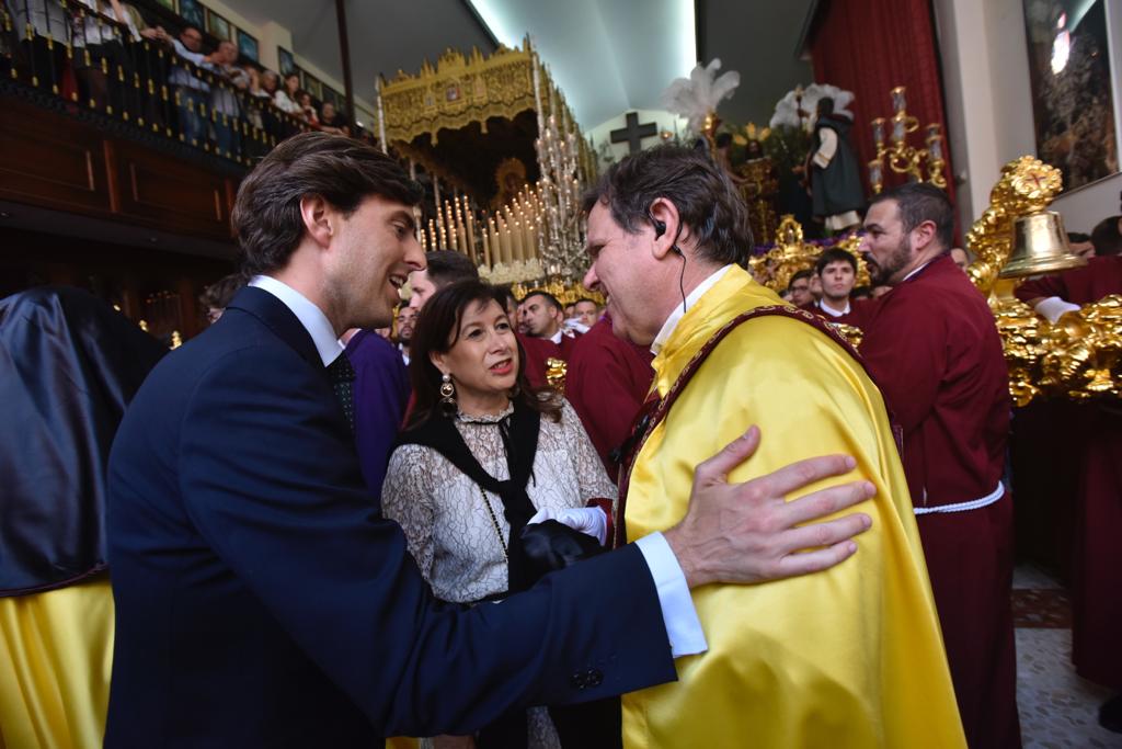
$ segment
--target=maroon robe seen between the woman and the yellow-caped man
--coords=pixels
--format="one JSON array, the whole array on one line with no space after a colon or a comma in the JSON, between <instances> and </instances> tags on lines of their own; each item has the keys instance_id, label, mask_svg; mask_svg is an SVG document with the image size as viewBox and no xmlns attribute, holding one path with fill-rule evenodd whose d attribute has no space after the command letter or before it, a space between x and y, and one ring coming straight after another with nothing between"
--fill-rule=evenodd
<instances>
[{"instance_id":1,"label":"maroon robe seen between the woman and the yellow-caped man","mask_svg":"<svg viewBox=\"0 0 1122 749\"><path fill-rule=\"evenodd\" d=\"M611 481L618 481L619 465L609 454L631 435L654 380L653 358L650 349L616 338L607 317L573 346L565 398L580 415Z\"/></svg>"}]
</instances>

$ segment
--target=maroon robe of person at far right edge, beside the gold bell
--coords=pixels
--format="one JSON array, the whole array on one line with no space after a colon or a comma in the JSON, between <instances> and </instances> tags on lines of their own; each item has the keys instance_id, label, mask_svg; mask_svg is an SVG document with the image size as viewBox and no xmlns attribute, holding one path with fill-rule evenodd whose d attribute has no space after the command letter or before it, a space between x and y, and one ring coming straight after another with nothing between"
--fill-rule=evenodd
<instances>
[{"instance_id":1,"label":"maroon robe of person at far right edge, beside the gold bell","mask_svg":"<svg viewBox=\"0 0 1122 749\"><path fill-rule=\"evenodd\" d=\"M1026 281L1015 294L1024 302L1059 296L1073 304L1122 294L1122 257L1093 257L1084 267ZM1069 428L1054 438L1078 440L1082 456L1073 540L1072 659L1079 676L1122 688L1122 408L1064 405L1070 412L1065 423Z\"/></svg>"}]
</instances>

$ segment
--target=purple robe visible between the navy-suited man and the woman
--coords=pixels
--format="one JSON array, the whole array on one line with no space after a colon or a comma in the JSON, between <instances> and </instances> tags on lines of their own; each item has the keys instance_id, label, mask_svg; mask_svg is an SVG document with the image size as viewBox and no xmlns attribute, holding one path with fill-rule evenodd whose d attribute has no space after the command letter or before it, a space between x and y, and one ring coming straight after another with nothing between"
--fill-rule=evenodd
<instances>
[{"instance_id":1,"label":"purple robe visible between the navy-suited man and the woman","mask_svg":"<svg viewBox=\"0 0 1122 749\"><path fill-rule=\"evenodd\" d=\"M405 415L410 378L397 348L373 330L355 334L344 353L355 367L355 448L380 509L381 482Z\"/></svg>"}]
</instances>

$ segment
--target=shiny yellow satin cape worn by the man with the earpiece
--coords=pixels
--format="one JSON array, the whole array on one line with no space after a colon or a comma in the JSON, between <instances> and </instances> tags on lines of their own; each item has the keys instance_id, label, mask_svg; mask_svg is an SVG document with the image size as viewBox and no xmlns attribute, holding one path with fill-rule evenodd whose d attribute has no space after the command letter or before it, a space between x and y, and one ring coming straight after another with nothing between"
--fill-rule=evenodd
<instances>
[{"instance_id":1,"label":"shiny yellow satin cape worn by the man with the earpiece","mask_svg":"<svg viewBox=\"0 0 1122 749\"><path fill-rule=\"evenodd\" d=\"M730 268L655 357L661 395L710 336L780 300ZM758 424L744 482L816 455L857 459L824 486L871 479L873 527L825 573L693 591L708 651L677 683L623 698L624 743L647 747L965 747L923 551L880 392L836 342L778 316L736 328L709 355L635 460L629 541L686 513L693 467ZM789 497L795 499L795 496Z\"/></svg>"}]
</instances>

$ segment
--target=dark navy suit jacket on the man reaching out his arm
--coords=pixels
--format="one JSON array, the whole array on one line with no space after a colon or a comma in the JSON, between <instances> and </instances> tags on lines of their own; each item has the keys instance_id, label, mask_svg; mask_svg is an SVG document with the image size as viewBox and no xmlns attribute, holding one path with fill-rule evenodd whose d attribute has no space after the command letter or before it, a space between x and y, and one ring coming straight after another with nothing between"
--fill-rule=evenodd
<instances>
[{"instance_id":1,"label":"dark navy suit jacket on the man reaching out his arm","mask_svg":"<svg viewBox=\"0 0 1122 749\"><path fill-rule=\"evenodd\" d=\"M108 747L369 749L674 678L635 548L435 602L311 337L260 289L153 371L109 471Z\"/></svg>"}]
</instances>

